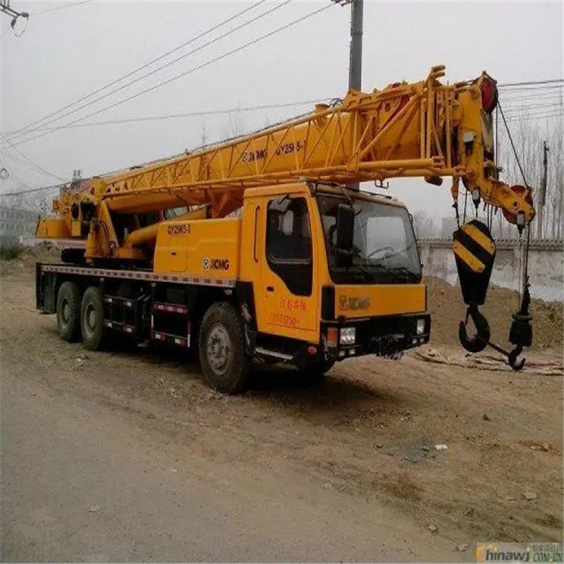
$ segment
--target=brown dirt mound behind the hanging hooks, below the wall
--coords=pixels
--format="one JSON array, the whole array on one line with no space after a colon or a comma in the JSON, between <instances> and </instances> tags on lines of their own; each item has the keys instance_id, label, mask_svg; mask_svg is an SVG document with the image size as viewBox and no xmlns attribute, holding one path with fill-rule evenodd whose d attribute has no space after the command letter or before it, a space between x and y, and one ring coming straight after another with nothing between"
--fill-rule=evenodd
<instances>
[{"instance_id":1,"label":"brown dirt mound behind the hanging hooks, below the wall","mask_svg":"<svg viewBox=\"0 0 564 564\"><path fill-rule=\"evenodd\" d=\"M429 311L431 312L431 343L458 345L458 324L464 319L466 307L459 286L450 286L440 278L425 278ZM490 286L486 303L480 310L486 316L491 330L491 341L510 347L508 342L511 314L519 309L519 297L514 290ZM534 349L562 348L563 304L533 299Z\"/></svg>"}]
</instances>

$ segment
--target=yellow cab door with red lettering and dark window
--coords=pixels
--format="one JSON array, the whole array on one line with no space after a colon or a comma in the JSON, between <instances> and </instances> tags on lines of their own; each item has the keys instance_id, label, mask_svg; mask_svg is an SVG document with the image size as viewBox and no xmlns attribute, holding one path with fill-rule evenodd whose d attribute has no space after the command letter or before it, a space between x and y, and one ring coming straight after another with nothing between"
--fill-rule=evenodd
<instances>
[{"instance_id":1,"label":"yellow cab door with red lettering and dark window","mask_svg":"<svg viewBox=\"0 0 564 564\"><path fill-rule=\"evenodd\" d=\"M266 332L317 342L319 283L308 199L303 194L282 195L265 204L257 289Z\"/></svg>"}]
</instances>

